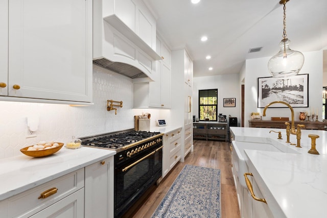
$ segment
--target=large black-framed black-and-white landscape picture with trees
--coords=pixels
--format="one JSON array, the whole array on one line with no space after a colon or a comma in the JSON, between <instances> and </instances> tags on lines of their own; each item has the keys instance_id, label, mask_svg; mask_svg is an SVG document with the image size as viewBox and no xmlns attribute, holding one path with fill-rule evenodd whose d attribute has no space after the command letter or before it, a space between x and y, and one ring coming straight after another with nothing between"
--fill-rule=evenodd
<instances>
[{"instance_id":1,"label":"large black-framed black-and-white landscape picture with trees","mask_svg":"<svg viewBox=\"0 0 327 218\"><path fill-rule=\"evenodd\" d=\"M309 74L285 78L258 78L258 108L264 108L274 101L286 102L293 108L309 107ZM287 106L273 104L270 107Z\"/></svg>"}]
</instances>

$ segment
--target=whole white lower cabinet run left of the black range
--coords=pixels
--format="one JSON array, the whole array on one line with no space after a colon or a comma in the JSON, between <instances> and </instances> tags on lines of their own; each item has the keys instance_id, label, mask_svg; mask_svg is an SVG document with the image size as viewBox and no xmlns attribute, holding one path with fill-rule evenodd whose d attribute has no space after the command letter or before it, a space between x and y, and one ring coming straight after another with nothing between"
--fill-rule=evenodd
<instances>
[{"instance_id":1,"label":"whole white lower cabinet run left of the black range","mask_svg":"<svg viewBox=\"0 0 327 218\"><path fill-rule=\"evenodd\" d=\"M0 217L113 217L113 156L0 201Z\"/></svg>"}]
</instances>

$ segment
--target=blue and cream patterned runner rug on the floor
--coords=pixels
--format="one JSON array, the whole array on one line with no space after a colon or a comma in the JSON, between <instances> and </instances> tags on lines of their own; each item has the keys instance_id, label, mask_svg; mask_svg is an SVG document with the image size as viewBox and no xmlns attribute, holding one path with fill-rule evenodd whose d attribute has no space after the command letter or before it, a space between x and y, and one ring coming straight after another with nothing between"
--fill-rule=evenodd
<instances>
[{"instance_id":1,"label":"blue and cream patterned runner rug on the floor","mask_svg":"<svg viewBox=\"0 0 327 218\"><path fill-rule=\"evenodd\" d=\"M220 169L186 164L152 218L220 218L220 214Z\"/></svg>"}]
</instances>

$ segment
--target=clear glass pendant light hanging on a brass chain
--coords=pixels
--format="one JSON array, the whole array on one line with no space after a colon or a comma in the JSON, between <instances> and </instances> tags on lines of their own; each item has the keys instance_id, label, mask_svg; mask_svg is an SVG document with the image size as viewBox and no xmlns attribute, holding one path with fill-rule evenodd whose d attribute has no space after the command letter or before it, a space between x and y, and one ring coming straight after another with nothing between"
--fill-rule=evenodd
<instances>
[{"instance_id":1,"label":"clear glass pendant light hanging on a brass chain","mask_svg":"<svg viewBox=\"0 0 327 218\"><path fill-rule=\"evenodd\" d=\"M286 3L289 0L281 0L279 4L284 5L283 16L283 39L279 42L281 49L268 61L268 69L274 78L291 77L298 74L303 66L305 57L298 51L291 50L290 40L286 35Z\"/></svg>"}]
</instances>

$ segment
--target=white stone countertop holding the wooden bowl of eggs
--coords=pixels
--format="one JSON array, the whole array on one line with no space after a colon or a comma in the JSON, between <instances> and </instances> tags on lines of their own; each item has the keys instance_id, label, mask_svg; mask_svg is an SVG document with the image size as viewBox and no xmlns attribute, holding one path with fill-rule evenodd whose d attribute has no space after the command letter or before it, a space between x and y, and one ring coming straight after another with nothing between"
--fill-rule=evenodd
<instances>
[{"instance_id":1,"label":"white stone countertop holding the wooden bowl of eggs","mask_svg":"<svg viewBox=\"0 0 327 218\"><path fill-rule=\"evenodd\" d=\"M87 165L111 157L115 151L81 147L66 149L46 157L24 154L0 159L0 201L49 182Z\"/></svg>"}]
</instances>

